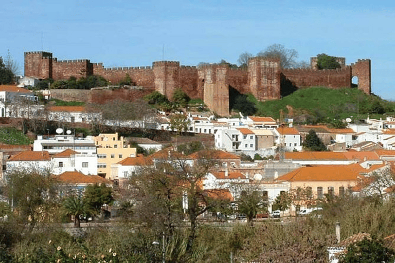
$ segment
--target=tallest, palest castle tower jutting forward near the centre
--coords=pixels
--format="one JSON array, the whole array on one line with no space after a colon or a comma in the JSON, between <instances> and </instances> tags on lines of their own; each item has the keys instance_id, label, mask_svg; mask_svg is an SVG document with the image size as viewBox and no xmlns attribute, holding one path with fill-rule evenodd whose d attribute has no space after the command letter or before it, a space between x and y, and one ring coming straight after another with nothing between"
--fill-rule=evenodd
<instances>
[{"instance_id":1,"label":"tallest, palest castle tower jutting forward near the centre","mask_svg":"<svg viewBox=\"0 0 395 263\"><path fill-rule=\"evenodd\" d=\"M229 116L228 65L207 65L199 69L203 101L220 116Z\"/></svg>"}]
</instances>

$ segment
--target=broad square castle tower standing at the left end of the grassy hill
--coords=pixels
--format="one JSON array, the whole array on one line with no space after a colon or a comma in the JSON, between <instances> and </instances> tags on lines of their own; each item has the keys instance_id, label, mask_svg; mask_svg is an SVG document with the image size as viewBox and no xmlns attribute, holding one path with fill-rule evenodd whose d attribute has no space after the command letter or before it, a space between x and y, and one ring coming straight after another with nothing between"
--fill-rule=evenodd
<instances>
[{"instance_id":1,"label":"broad square castle tower standing at the left end of the grassy hill","mask_svg":"<svg viewBox=\"0 0 395 263\"><path fill-rule=\"evenodd\" d=\"M248 60L249 90L258 101L281 98L280 72L279 60L260 57Z\"/></svg>"}]
</instances>

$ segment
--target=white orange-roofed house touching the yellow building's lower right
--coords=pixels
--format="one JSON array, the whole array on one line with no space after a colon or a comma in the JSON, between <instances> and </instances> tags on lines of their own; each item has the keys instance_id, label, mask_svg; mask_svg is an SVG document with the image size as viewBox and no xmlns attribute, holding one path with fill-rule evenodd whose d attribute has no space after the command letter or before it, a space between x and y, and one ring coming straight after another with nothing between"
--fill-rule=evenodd
<instances>
[{"instance_id":1,"label":"white orange-roofed house touching the yellow building's lower right","mask_svg":"<svg viewBox=\"0 0 395 263\"><path fill-rule=\"evenodd\" d=\"M138 173L141 168L153 165L154 162L150 157L127 157L118 163L111 165L111 178L113 178L119 185L124 185L124 182L131 176Z\"/></svg>"}]
</instances>

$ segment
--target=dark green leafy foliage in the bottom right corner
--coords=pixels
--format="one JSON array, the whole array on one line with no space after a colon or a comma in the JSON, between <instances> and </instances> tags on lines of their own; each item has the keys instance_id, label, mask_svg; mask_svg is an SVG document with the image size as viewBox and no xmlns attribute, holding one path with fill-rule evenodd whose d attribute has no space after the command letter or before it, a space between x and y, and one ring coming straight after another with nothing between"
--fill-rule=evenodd
<instances>
[{"instance_id":1,"label":"dark green leafy foliage in the bottom right corner","mask_svg":"<svg viewBox=\"0 0 395 263\"><path fill-rule=\"evenodd\" d=\"M393 262L395 252L382 245L382 242L374 239L363 239L347 247L347 253L343 255L340 263L370 263L370 262Z\"/></svg>"}]
</instances>

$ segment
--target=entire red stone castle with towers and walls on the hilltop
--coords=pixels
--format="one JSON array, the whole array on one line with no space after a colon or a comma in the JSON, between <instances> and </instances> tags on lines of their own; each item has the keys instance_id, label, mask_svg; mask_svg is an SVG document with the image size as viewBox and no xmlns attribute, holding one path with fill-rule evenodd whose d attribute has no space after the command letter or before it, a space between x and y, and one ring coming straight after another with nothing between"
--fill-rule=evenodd
<instances>
[{"instance_id":1,"label":"entire red stone castle with towers and walls on the hilltop","mask_svg":"<svg viewBox=\"0 0 395 263\"><path fill-rule=\"evenodd\" d=\"M190 98L200 98L212 111L228 116L230 88L265 101L280 99L299 88L351 88L351 79L357 77L358 88L370 94L370 60L358 60L351 65L346 65L345 58L337 61L340 68L324 70L317 69L317 58L311 58L311 68L283 69L278 60L260 57L249 59L247 69L225 64L180 66L176 61L157 61L146 67L104 68L102 63L86 59L58 61L50 52L35 51L25 52L25 76L65 80L95 74L117 83L129 74L136 85L147 90L157 90L171 98L174 90L181 88Z\"/></svg>"}]
</instances>

